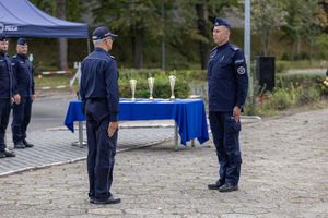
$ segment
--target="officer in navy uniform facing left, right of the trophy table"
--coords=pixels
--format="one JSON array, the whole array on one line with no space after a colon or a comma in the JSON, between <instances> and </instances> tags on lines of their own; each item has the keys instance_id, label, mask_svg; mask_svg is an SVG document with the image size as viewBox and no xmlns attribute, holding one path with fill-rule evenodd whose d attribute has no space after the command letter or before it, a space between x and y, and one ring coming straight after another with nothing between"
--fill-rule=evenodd
<instances>
[{"instance_id":1,"label":"officer in navy uniform facing left, right of the trophy table","mask_svg":"<svg viewBox=\"0 0 328 218\"><path fill-rule=\"evenodd\" d=\"M231 23L216 17L213 39L218 44L208 64L209 119L220 179L210 190L238 190L242 154L239 150L239 114L247 96L248 77L244 52L230 44Z\"/></svg>"}]
</instances>

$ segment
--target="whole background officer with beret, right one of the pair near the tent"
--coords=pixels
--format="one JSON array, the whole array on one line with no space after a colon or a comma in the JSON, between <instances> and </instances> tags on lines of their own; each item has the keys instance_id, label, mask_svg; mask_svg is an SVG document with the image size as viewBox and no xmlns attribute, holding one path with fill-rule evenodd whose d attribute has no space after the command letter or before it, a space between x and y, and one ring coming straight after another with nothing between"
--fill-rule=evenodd
<instances>
[{"instance_id":1,"label":"whole background officer with beret, right one of the pair near the tent","mask_svg":"<svg viewBox=\"0 0 328 218\"><path fill-rule=\"evenodd\" d=\"M10 60L15 80L14 90L21 95L21 104L13 105L13 120L11 124L14 148L33 147L26 141L26 130L31 121L32 102L35 100L34 93L34 70L26 57L27 41L19 38L16 46L17 53Z\"/></svg>"}]
</instances>

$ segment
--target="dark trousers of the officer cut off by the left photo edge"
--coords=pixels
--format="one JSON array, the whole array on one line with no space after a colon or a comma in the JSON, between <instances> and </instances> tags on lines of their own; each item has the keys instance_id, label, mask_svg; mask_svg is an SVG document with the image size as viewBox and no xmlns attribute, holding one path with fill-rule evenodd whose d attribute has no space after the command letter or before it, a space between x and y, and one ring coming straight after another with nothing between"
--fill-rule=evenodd
<instances>
[{"instance_id":1,"label":"dark trousers of the officer cut off by the left photo edge","mask_svg":"<svg viewBox=\"0 0 328 218\"><path fill-rule=\"evenodd\" d=\"M0 99L0 152L4 152L4 136L11 110L11 99Z\"/></svg>"}]
</instances>

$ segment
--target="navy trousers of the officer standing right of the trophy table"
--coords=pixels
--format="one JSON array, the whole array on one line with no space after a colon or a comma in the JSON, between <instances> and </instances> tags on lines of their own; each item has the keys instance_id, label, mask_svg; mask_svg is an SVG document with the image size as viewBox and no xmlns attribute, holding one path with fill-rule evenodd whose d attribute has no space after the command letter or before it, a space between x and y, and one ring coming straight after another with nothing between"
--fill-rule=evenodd
<instances>
[{"instance_id":1,"label":"navy trousers of the officer standing right of the trophy table","mask_svg":"<svg viewBox=\"0 0 328 218\"><path fill-rule=\"evenodd\" d=\"M220 164L219 182L237 185L242 164L239 150L241 121L236 123L232 112L210 111L209 118Z\"/></svg>"}]
</instances>

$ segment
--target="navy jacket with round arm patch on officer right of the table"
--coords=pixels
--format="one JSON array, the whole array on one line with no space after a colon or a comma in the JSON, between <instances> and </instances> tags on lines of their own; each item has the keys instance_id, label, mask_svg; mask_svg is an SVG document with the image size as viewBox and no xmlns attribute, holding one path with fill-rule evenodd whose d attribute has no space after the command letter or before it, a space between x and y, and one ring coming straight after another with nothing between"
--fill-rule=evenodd
<instances>
[{"instance_id":1,"label":"navy jacket with round arm patch on officer right of the table","mask_svg":"<svg viewBox=\"0 0 328 218\"><path fill-rule=\"evenodd\" d=\"M209 111L232 112L244 105L248 76L244 52L230 44L216 46L208 64Z\"/></svg>"}]
</instances>

